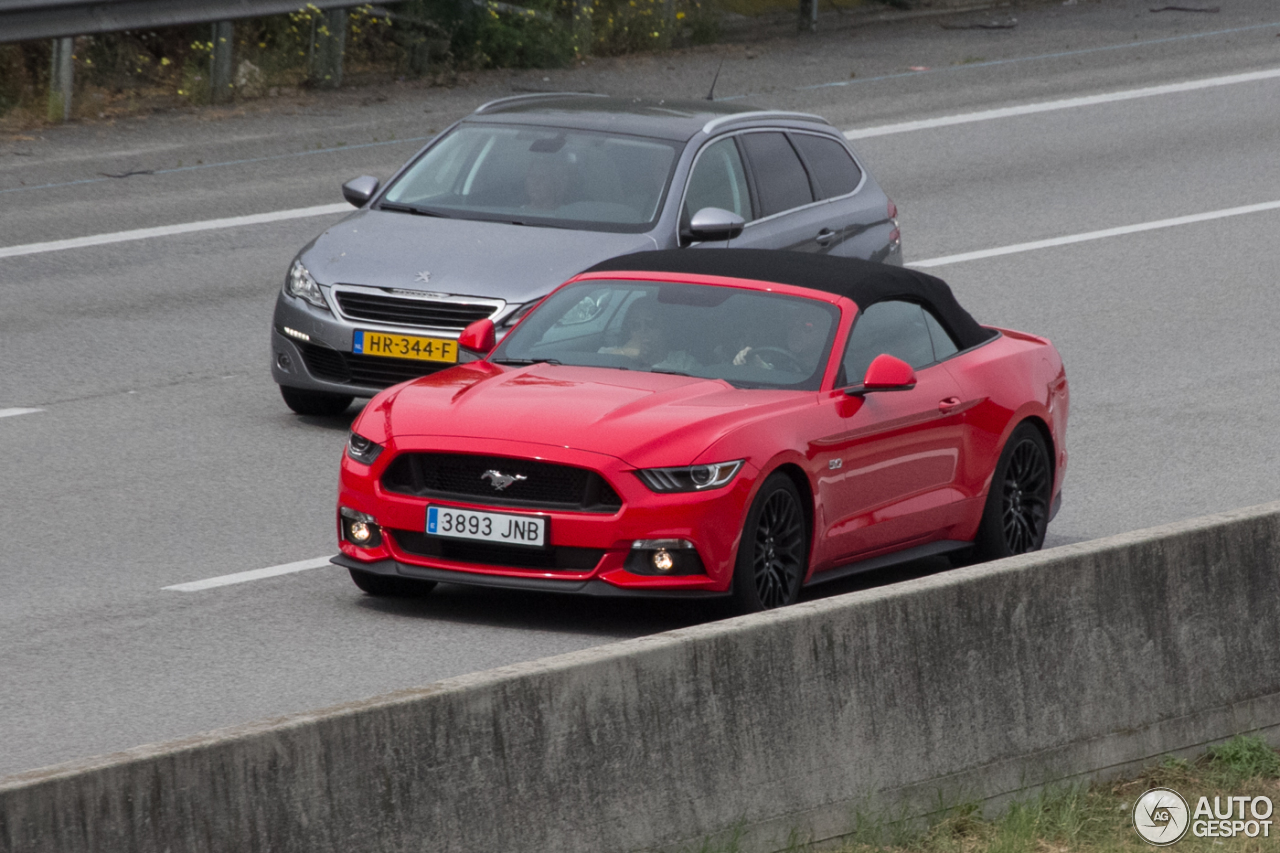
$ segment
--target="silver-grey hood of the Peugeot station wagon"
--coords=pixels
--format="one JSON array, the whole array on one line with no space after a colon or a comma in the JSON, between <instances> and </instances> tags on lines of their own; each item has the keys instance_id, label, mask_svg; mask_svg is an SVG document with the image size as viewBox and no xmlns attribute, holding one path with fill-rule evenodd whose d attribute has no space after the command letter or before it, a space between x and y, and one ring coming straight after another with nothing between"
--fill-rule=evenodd
<instances>
[{"instance_id":1,"label":"silver-grey hood of the Peugeot station wagon","mask_svg":"<svg viewBox=\"0 0 1280 853\"><path fill-rule=\"evenodd\" d=\"M648 234L361 210L316 237L302 263L321 284L527 302L602 260L648 248L657 248Z\"/></svg>"}]
</instances>

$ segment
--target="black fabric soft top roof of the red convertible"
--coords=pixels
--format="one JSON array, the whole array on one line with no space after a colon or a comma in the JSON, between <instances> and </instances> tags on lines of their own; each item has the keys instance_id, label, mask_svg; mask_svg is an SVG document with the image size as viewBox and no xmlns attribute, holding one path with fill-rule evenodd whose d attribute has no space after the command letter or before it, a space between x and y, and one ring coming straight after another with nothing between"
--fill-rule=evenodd
<instances>
[{"instance_id":1,"label":"black fabric soft top roof of the red convertible","mask_svg":"<svg viewBox=\"0 0 1280 853\"><path fill-rule=\"evenodd\" d=\"M933 309L961 350L995 334L960 307L941 278L856 257L764 248L672 248L611 257L585 272L686 273L777 282L846 296L860 310L884 300L905 300Z\"/></svg>"}]
</instances>

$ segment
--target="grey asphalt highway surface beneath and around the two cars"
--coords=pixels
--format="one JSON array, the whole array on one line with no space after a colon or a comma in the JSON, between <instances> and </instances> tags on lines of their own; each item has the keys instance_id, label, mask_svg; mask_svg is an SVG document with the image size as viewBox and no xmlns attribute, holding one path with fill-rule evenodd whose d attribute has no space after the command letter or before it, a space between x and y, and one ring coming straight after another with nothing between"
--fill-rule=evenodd
<instances>
[{"instance_id":1,"label":"grey asphalt highway surface beneath and around the two cars","mask_svg":"<svg viewBox=\"0 0 1280 853\"><path fill-rule=\"evenodd\" d=\"M288 263L340 214L207 223L340 202L342 181L385 177L513 91L700 97L723 60L717 96L859 132L908 261L1066 360L1070 473L1048 544L1280 497L1280 10L1152 5L1028 6L1005 29L938 24L1009 10L916 18L0 140L0 775L717 617L458 587L385 602L334 566L165 589L332 555L356 411L296 418L268 373ZM1197 81L1215 85L1179 86ZM1025 105L1042 109L1006 109ZM911 122L925 126L893 127ZM189 223L206 224L31 248Z\"/></svg>"}]
</instances>

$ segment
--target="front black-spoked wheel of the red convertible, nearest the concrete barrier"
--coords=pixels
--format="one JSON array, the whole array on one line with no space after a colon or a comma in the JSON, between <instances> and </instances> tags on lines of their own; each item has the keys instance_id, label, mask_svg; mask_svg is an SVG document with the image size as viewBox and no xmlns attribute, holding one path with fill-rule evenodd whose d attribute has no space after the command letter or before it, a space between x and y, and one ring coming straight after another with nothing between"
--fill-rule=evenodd
<instances>
[{"instance_id":1,"label":"front black-spoked wheel of the red convertible, nearest the concrete barrier","mask_svg":"<svg viewBox=\"0 0 1280 853\"><path fill-rule=\"evenodd\" d=\"M794 605L809 565L809 532L800 493L785 474L772 474L742 524L733 564L733 605L758 613Z\"/></svg>"}]
</instances>

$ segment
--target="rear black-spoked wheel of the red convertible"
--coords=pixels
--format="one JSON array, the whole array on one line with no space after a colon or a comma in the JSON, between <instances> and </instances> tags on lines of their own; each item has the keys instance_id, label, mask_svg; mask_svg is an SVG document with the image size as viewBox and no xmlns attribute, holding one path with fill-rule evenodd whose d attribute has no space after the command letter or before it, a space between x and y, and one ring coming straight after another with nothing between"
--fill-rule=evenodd
<instances>
[{"instance_id":1,"label":"rear black-spoked wheel of the red convertible","mask_svg":"<svg viewBox=\"0 0 1280 853\"><path fill-rule=\"evenodd\" d=\"M1039 551L1048 528L1053 469L1044 437L1032 424L1014 429L996 462L973 558L1000 560Z\"/></svg>"}]
</instances>

